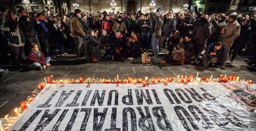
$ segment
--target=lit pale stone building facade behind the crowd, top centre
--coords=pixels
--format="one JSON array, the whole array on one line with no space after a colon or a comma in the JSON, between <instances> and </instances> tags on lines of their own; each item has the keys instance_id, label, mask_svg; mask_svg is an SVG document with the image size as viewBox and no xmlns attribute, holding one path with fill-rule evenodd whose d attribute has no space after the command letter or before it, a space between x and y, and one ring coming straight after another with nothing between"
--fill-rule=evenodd
<instances>
[{"instance_id":1,"label":"lit pale stone building facade behind the crowd, top centre","mask_svg":"<svg viewBox=\"0 0 256 131\"><path fill-rule=\"evenodd\" d=\"M70 0L71 11L74 11L75 7L73 7L73 3L79 4L79 9L84 12L113 12L111 10L110 2L112 0ZM115 7L115 12L128 12L134 13L141 11L142 13L149 12L149 3L151 0L119 0L116 1L117 5ZM156 6L155 11L157 8L161 8L162 12L167 13L170 9L173 12L184 12L183 5L188 4L189 0L155 0Z\"/></svg>"}]
</instances>

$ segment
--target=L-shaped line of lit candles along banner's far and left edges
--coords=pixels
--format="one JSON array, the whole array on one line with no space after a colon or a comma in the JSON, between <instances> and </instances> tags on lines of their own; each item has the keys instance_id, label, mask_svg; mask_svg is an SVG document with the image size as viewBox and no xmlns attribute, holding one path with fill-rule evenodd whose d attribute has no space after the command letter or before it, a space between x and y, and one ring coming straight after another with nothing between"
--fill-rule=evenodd
<instances>
[{"instance_id":1,"label":"L-shaped line of lit candles along banner's far and left edges","mask_svg":"<svg viewBox=\"0 0 256 131\"><path fill-rule=\"evenodd\" d=\"M154 84L154 83L163 83L164 85L167 85L169 82L178 82L178 83L189 83L189 82L246 82L247 84L252 84L252 81L245 81L240 80L239 76L235 75L221 75L219 78L213 78L213 75L211 75L210 78L208 77L198 77L198 74L196 74L196 77L194 75L189 76L183 76L178 75L177 77L168 77L168 78L161 78L161 77L152 77L148 78L147 76L145 79L133 79L131 76L128 76L127 79L119 79L119 76L117 75L114 80L108 79L101 79L101 78L83 78L82 76L79 76L77 80L75 79L66 79L66 80L54 80L53 76L46 76L44 77L44 82L39 83L39 89L35 89L29 97L25 101L20 102L20 107L15 108L13 110L12 115L6 115L5 116L5 124L2 125L0 121L0 130L9 130L9 128L15 123L15 121L20 117L23 110L25 110L29 103L31 103L34 98L37 96L37 94L44 88L46 84L62 84L62 83L130 83L130 84L142 84L143 87L146 87L148 84ZM253 83L255 86L255 84Z\"/></svg>"}]
</instances>

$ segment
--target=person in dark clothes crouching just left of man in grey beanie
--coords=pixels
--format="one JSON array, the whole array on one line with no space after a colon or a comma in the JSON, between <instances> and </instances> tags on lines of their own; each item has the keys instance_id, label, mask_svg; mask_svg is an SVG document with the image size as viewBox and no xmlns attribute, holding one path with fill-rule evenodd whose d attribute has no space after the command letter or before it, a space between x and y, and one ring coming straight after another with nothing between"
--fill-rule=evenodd
<instances>
[{"instance_id":1,"label":"person in dark clothes crouching just left of man in grey beanie","mask_svg":"<svg viewBox=\"0 0 256 131\"><path fill-rule=\"evenodd\" d=\"M212 64L217 63L220 49L221 49L220 42L211 43L209 46L206 47L205 53L203 55L204 67L209 67L209 66L212 66Z\"/></svg>"}]
</instances>

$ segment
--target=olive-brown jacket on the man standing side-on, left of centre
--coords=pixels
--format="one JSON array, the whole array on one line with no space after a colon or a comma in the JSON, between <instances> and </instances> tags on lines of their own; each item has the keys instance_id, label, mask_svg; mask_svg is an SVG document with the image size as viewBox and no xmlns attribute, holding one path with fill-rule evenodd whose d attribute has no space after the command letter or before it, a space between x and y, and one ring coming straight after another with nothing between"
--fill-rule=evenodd
<instances>
[{"instance_id":1,"label":"olive-brown jacket on the man standing side-on, left of centre","mask_svg":"<svg viewBox=\"0 0 256 131\"><path fill-rule=\"evenodd\" d=\"M82 37L85 36L84 28L79 18L75 14L71 16L70 19L70 30L71 30L71 37Z\"/></svg>"}]
</instances>

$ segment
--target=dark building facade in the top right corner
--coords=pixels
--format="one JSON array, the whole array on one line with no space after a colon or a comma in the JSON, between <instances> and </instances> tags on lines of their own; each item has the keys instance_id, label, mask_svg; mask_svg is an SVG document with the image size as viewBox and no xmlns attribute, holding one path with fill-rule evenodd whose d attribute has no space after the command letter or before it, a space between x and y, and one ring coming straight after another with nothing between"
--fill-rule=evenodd
<instances>
[{"instance_id":1,"label":"dark building facade in the top right corner","mask_svg":"<svg viewBox=\"0 0 256 131\"><path fill-rule=\"evenodd\" d=\"M253 15L256 13L256 0L232 0L229 13L232 12Z\"/></svg>"}]
</instances>

